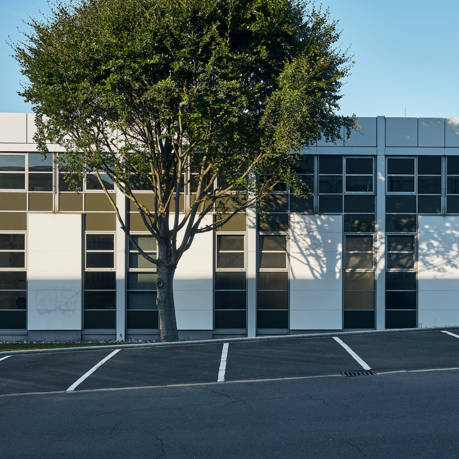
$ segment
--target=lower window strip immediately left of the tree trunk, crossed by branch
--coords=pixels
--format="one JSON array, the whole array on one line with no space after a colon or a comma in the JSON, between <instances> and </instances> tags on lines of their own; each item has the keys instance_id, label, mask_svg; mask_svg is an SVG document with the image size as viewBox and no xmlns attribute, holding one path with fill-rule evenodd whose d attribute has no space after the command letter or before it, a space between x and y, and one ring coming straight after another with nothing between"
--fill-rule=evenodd
<instances>
[{"instance_id":1,"label":"lower window strip immediately left of the tree trunk, crossed by branch","mask_svg":"<svg viewBox=\"0 0 459 459\"><path fill-rule=\"evenodd\" d=\"M157 242L152 235L133 235L136 244L156 258ZM129 241L126 328L158 330L159 312L156 304L156 265L149 262Z\"/></svg>"}]
</instances>

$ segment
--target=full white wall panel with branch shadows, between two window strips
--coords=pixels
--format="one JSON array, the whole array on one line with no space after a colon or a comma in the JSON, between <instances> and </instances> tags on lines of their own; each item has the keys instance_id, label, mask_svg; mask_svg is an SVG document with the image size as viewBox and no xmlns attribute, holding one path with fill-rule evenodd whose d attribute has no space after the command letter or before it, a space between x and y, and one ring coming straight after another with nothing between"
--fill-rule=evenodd
<instances>
[{"instance_id":1,"label":"full white wall panel with branch shadows, between two window strips","mask_svg":"<svg viewBox=\"0 0 459 459\"><path fill-rule=\"evenodd\" d=\"M291 330L341 330L341 215L291 215L290 269Z\"/></svg>"}]
</instances>

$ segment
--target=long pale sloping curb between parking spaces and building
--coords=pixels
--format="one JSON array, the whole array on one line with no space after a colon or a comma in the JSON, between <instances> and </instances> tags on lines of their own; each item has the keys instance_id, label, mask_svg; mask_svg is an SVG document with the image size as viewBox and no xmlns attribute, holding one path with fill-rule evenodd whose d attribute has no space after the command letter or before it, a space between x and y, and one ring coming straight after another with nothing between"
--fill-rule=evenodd
<instances>
[{"instance_id":1,"label":"long pale sloping curb between parking spaces and building","mask_svg":"<svg viewBox=\"0 0 459 459\"><path fill-rule=\"evenodd\" d=\"M271 340L288 340L301 338L325 338L330 336L356 336L356 335L379 335L384 333L406 333L422 331L441 331L441 330L458 330L459 325L448 327L425 327L425 328L392 328L388 330L361 330L361 331L339 331L335 333L310 333L308 335L275 335L275 336L256 336L252 338L227 338L214 340L198 341L174 341L170 343L139 343L139 344L112 344L109 346L88 346L88 347L59 347L56 349L31 349L29 351L1 351L2 355L21 355L21 354L42 354L50 352L76 352L76 351L104 351L109 349L132 349L137 347L157 347L157 346L189 346L196 344L216 344L228 342L249 342L249 341L271 341Z\"/></svg>"}]
</instances>

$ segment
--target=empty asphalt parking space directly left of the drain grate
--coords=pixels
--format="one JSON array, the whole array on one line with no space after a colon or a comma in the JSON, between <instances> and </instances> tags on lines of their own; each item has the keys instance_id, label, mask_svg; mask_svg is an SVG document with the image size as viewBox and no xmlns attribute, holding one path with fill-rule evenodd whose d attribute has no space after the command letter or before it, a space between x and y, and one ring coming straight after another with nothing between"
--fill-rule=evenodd
<instances>
[{"instance_id":1,"label":"empty asphalt parking space directly left of the drain grate","mask_svg":"<svg viewBox=\"0 0 459 459\"><path fill-rule=\"evenodd\" d=\"M228 348L225 381L336 375L359 368L332 338L233 342Z\"/></svg>"}]
</instances>

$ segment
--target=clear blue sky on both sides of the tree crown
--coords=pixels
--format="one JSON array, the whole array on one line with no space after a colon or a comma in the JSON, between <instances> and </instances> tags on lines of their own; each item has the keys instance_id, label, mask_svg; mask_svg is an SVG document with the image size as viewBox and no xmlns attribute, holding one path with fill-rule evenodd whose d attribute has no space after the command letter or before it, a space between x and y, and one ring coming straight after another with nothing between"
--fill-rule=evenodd
<instances>
[{"instance_id":1,"label":"clear blue sky on both sides of the tree crown","mask_svg":"<svg viewBox=\"0 0 459 459\"><path fill-rule=\"evenodd\" d=\"M317 2L318 3L318 2ZM8 35L27 14L46 11L45 0L0 2L0 112L25 112L16 94L22 75L9 56ZM341 113L358 116L459 117L457 29L452 0L324 1L343 29L355 64L343 86ZM456 75L456 76L455 76Z\"/></svg>"}]
</instances>

